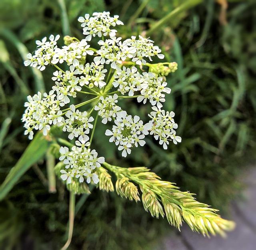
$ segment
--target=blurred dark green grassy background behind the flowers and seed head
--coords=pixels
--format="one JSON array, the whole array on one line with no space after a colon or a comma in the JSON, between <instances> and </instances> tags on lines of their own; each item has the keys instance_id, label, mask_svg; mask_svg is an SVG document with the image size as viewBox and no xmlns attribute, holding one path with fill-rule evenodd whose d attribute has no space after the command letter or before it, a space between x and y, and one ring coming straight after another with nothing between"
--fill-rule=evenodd
<instances>
[{"instance_id":1,"label":"blurred dark green grassy background behind the flowers and seed head","mask_svg":"<svg viewBox=\"0 0 256 250\"><path fill-rule=\"evenodd\" d=\"M34 40L50 34L82 38L77 17L103 10L120 15L127 26L118 32L126 38L191 2L198 1L1 0L0 182L29 143L20 121L26 95L52 86L51 69L42 75L23 66L27 50L36 48ZM175 111L182 143L164 151L148 138L146 148L122 159L99 126L94 145L108 162L150 167L222 212L239 193L238 174L256 155L256 4L228 1L226 9L226 3L204 1L150 34L166 60L178 63L176 73L167 77L172 93L164 108ZM150 111L132 100L121 105L144 120ZM1 249L58 249L65 242L68 192L57 182L57 192L49 194L46 176L42 159L0 203ZM142 204L115 193L94 189L77 200L70 249L150 249L172 229L165 220L150 218Z\"/></svg>"}]
</instances>

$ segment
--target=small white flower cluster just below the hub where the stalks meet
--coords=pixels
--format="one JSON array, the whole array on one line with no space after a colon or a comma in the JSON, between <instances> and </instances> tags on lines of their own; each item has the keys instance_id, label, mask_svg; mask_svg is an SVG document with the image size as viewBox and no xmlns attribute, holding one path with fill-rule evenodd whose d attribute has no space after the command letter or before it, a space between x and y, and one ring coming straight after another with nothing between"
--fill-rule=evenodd
<instances>
[{"instance_id":1,"label":"small white flower cluster just below the hub where the stalks meet","mask_svg":"<svg viewBox=\"0 0 256 250\"><path fill-rule=\"evenodd\" d=\"M116 114L118 111L121 110L121 108L116 105L118 99L118 95L114 94L109 95L107 97L100 97L100 102L98 105L95 106L95 110L98 111L98 115L101 116L102 123L106 124L108 121L112 120L112 117L116 117Z\"/></svg>"}]
</instances>

